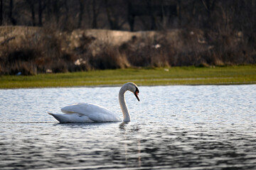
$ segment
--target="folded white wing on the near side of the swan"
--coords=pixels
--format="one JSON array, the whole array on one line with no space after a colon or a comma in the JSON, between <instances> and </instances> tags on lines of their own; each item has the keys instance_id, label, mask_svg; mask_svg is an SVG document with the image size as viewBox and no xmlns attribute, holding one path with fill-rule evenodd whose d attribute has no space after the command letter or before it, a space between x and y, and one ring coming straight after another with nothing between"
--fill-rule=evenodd
<instances>
[{"instance_id":1,"label":"folded white wing on the near side of the swan","mask_svg":"<svg viewBox=\"0 0 256 170\"><path fill-rule=\"evenodd\" d=\"M79 114L82 117L87 116L87 118L94 122L112 122L121 120L117 115L107 110L107 108L90 103L75 103L61 108L61 111L67 114Z\"/></svg>"}]
</instances>

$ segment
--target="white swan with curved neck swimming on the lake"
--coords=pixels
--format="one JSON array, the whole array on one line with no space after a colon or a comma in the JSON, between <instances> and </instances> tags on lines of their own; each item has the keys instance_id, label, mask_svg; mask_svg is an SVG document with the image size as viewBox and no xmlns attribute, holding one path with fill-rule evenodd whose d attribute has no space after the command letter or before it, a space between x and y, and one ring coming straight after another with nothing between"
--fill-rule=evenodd
<instances>
[{"instance_id":1,"label":"white swan with curved neck swimming on the lake","mask_svg":"<svg viewBox=\"0 0 256 170\"><path fill-rule=\"evenodd\" d=\"M127 109L124 94L131 91L139 101L138 86L132 82L124 84L119 90L119 104L123 114L123 121L131 121L131 116ZM60 123L103 123L121 121L118 115L112 113L107 108L91 103L74 103L61 108L63 113L48 113Z\"/></svg>"}]
</instances>

